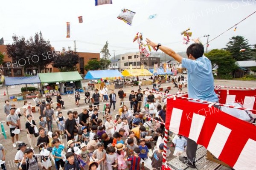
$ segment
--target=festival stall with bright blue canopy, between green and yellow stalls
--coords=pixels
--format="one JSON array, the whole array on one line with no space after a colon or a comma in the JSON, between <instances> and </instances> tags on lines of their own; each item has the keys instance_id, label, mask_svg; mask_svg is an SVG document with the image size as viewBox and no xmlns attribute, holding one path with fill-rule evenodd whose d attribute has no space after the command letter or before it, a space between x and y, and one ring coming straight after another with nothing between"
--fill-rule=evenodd
<instances>
[{"instance_id":1,"label":"festival stall with bright blue canopy, between green and yellow stalls","mask_svg":"<svg viewBox=\"0 0 256 170\"><path fill-rule=\"evenodd\" d=\"M84 79L90 79L90 80L99 80L99 83L90 81L88 83L88 86L91 89L94 88L103 88L104 85L108 87L108 89L114 89L123 87L123 76L118 70L94 70L94 71L88 71L85 75Z\"/></svg>"}]
</instances>

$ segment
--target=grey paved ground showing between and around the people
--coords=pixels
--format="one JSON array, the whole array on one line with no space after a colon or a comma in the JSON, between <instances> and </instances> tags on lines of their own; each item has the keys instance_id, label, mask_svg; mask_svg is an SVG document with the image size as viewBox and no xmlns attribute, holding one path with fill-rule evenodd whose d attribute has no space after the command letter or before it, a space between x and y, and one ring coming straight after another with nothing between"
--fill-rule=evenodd
<instances>
[{"instance_id":1,"label":"grey paved ground showing between and around the people","mask_svg":"<svg viewBox=\"0 0 256 170\"><path fill-rule=\"evenodd\" d=\"M87 82L83 82L83 85L87 85ZM215 80L215 85L256 88L256 82L254 82L254 81ZM15 88L9 88L9 95L19 94L20 93L20 88L23 87L23 86L24 85L21 85L20 87L15 86ZM170 90L170 94L174 94L178 90L177 88L173 88L174 85L172 83L164 83L164 84L161 85L161 87L164 87L163 89L166 89L167 86L172 87L172 89ZM145 89L146 87L148 87L149 89L152 89L152 85L145 85L145 86L142 86L141 88ZM123 90L125 92L130 92L131 90L137 91L138 88L139 88L139 86L131 87L131 85L128 85L125 88L123 88ZM2 115L2 116L0 116L0 122L6 121L6 117L4 116L4 113L3 113L3 105L4 105L4 100L7 99L7 95L3 96L3 91L6 92L5 87L0 88L0 113ZM118 91L119 91L119 89L115 89L116 94L117 94ZM187 88L183 88L183 91L187 91ZM110 93L111 93L111 91L108 91L108 94L110 94ZM81 97L82 96L84 96L84 93L81 93ZM92 93L91 93L91 96L92 96ZM41 97L41 99L45 99L45 98ZM54 96L52 96L52 99L53 99L54 102L56 102L56 98ZM64 102L65 102L65 109L62 110L62 113L64 113L63 115L65 117L67 117L67 111L71 110L71 111L78 111L78 113L81 113L83 108L88 108L88 104L85 105L84 100L80 100L80 107L77 107L75 105L75 99L73 98L73 96L62 95L62 99L64 99ZM28 99L28 101L32 102L32 105L33 105L34 102L33 102L32 99ZM125 101L128 101L128 97L125 98ZM16 105L17 108L23 107L23 101L13 102L12 100L10 100L10 104L13 104L13 103ZM100 104L105 104L105 103L106 102L100 102ZM128 107L130 106L129 103L125 103L125 105L127 105ZM99 111L103 110L103 106L104 105L100 105ZM117 99L117 102L116 102L116 112L118 111L118 108L119 108L119 99ZM112 111L112 113L113 113L113 111ZM116 113L113 113L113 115L115 115L115 114ZM101 119L102 114L99 114L99 115L100 115L99 118ZM38 124L38 122L39 122L39 119L38 119L39 113L38 113L38 111L36 111L36 113L34 113L34 116L35 116L35 122ZM26 144L29 144L28 140L27 140L27 136L26 136L25 122L26 122L26 119L25 119L24 116L22 116L21 117L21 125L22 125L23 131L21 131L19 137L20 137L20 141L23 141ZM12 142L11 142L11 139L10 139L9 127L6 126L5 122L3 123L3 125L4 125L5 130L8 131L6 133L7 134L7 139L4 139L3 136L0 136L0 143L3 144L3 146L6 149L6 161L7 162L9 161L9 166L11 167L10 168L9 166L7 166L7 169L15 170L16 166L15 166L13 160L14 160L15 154L17 152L17 147L13 148L13 146L12 146ZM53 127L54 130L57 129L57 125L55 123L53 123L53 126L54 126ZM174 151L174 148L171 147L171 152L173 153L173 151ZM39 152L38 148L35 148L35 152L36 153ZM174 156L172 156L172 154L171 154L171 156L169 156L168 160L173 159L173 158L174 158ZM52 170L55 170L55 167L52 167Z\"/></svg>"}]
</instances>

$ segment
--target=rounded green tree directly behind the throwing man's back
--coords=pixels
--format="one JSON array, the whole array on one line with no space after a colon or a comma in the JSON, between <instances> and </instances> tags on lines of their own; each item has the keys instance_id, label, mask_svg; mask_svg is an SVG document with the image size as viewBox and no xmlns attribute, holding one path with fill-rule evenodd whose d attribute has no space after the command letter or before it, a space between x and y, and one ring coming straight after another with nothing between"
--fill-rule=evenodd
<instances>
[{"instance_id":1,"label":"rounded green tree directly behind the throwing man's back","mask_svg":"<svg viewBox=\"0 0 256 170\"><path fill-rule=\"evenodd\" d=\"M218 76L230 75L238 68L236 60L232 58L229 51L213 49L204 55L211 60L212 68L218 65Z\"/></svg>"}]
</instances>

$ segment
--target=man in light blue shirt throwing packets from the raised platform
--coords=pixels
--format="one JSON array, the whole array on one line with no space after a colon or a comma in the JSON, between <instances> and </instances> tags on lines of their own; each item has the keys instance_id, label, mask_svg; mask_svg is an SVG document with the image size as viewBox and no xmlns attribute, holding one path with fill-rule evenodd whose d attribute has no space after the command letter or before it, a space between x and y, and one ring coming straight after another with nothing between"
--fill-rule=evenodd
<instances>
[{"instance_id":1,"label":"man in light blue shirt throwing packets from the raised platform","mask_svg":"<svg viewBox=\"0 0 256 170\"><path fill-rule=\"evenodd\" d=\"M214 92L214 80L212 75L211 61L204 56L204 46L199 43L199 39L193 40L195 43L189 45L186 50L188 58L183 58L172 49L161 44L146 39L147 45L160 49L164 53L173 57L177 62L182 63L182 67L188 70L188 95L189 98L218 102L218 97ZM167 113L168 114L168 113ZM195 153L197 144L195 141L187 140L187 157L180 156L180 161L186 163L191 168L195 168Z\"/></svg>"}]
</instances>

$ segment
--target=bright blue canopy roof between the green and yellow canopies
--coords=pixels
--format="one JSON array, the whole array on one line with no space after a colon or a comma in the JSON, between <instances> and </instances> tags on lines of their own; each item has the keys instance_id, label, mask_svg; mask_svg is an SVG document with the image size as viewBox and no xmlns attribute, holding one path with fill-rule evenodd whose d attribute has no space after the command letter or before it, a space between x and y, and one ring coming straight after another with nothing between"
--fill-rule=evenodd
<instances>
[{"instance_id":1,"label":"bright blue canopy roof between the green and yellow canopies","mask_svg":"<svg viewBox=\"0 0 256 170\"><path fill-rule=\"evenodd\" d=\"M88 71L84 79L122 79L123 75L118 70Z\"/></svg>"}]
</instances>

